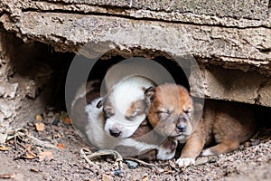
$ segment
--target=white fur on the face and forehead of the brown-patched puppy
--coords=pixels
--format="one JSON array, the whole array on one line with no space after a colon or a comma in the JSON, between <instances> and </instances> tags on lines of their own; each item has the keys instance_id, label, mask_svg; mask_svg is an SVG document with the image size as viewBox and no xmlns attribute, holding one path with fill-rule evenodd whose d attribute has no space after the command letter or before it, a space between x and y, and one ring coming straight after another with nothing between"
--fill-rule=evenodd
<instances>
[{"instance_id":1,"label":"white fur on the face and forehead of the brown-patched puppy","mask_svg":"<svg viewBox=\"0 0 271 181\"><path fill-rule=\"evenodd\" d=\"M145 99L145 89L154 86L150 81L141 76L132 76L119 81L109 91L107 95L115 114L106 121L105 131L109 133L109 129L121 131L119 138L128 138L134 134L135 130L145 120L146 115L135 116L133 121L126 119L126 111L131 109L132 103Z\"/></svg>"}]
</instances>

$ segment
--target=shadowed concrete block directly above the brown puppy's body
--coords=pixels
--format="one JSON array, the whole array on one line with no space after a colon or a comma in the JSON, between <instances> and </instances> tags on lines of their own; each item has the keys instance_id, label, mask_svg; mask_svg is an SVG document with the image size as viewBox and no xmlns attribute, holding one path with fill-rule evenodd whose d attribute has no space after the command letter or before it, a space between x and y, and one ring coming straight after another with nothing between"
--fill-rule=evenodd
<instances>
[{"instance_id":1,"label":"shadowed concrete block directly above the brown puppy's body","mask_svg":"<svg viewBox=\"0 0 271 181\"><path fill-rule=\"evenodd\" d=\"M270 106L270 85L264 85L267 78L260 75L257 71L243 72L239 70L225 70L218 66L206 66L201 68L203 74L204 95L217 100L234 100ZM191 84L193 84L191 80ZM264 99L259 99L258 97Z\"/></svg>"}]
</instances>

